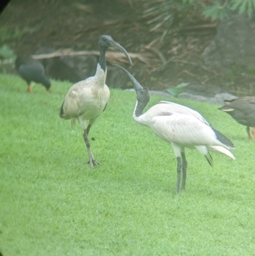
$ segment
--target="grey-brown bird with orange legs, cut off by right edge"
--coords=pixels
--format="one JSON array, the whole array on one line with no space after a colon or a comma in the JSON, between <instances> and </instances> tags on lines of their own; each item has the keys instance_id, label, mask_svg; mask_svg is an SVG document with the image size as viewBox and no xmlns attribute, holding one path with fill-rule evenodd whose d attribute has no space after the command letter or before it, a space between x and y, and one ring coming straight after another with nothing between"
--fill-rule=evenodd
<instances>
[{"instance_id":1,"label":"grey-brown bird with orange legs, cut off by right edge","mask_svg":"<svg viewBox=\"0 0 255 256\"><path fill-rule=\"evenodd\" d=\"M229 114L237 123L246 126L249 140L252 140L250 127L252 127L252 135L255 138L255 96L246 96L235 98L233 100L224 100L225 105L219 107Z\"/></svg>"}]
</instances>

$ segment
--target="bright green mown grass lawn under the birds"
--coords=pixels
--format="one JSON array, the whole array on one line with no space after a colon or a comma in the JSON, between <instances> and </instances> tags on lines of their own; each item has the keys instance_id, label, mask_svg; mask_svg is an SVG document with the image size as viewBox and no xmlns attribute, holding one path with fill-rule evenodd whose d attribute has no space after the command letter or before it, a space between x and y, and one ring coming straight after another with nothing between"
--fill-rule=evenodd
<instances>
[{"instance_id":1,"label":"bright green mown grass lawn under the birds","mask_svg":"<svg viewBox=\"0 0 255 256\"><path fill-rule=\"evenodd\" d=\"M69 82L52 92L0 75L0 251L15 255L254 255L255 142L216 105L198 110L233 141L237 160L214 168L186 150L186 191L175 195L171 145L135 123L134 92L111 90L92 126L90 169L83 131L58 116ZM152 96L149 106L168 100Z\"/></svg>"}]
</instances>

